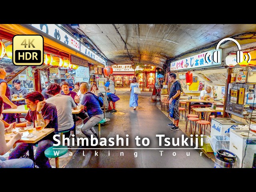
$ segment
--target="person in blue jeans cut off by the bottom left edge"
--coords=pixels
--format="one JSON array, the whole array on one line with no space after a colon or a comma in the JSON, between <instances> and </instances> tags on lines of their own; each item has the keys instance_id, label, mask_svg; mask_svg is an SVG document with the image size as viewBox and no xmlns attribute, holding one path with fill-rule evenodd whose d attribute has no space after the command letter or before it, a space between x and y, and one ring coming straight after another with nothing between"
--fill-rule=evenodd
<instances>
[{"instance_id":1,"label":"person in blue jeans cut off by the bottom left edge","mask_svg":"<svg viewBox=\"0 0 256 192\"><path fill-rule=\"evenodd\" d=\"M2 114L2 110L4 110L3 103L3 98L0 97L0 115ZM14 136L6 143L4 134L7 134L8 132L8 129L4 128L4 123L0 120L0 155L6 154L6 152L12 148L14 143L22 137L22 133L17 132L17 134L14 134ZM0 157L0 168L34 168L34 162L28 158L6 160L6 158Z\"/></svg>"}]
</instances>

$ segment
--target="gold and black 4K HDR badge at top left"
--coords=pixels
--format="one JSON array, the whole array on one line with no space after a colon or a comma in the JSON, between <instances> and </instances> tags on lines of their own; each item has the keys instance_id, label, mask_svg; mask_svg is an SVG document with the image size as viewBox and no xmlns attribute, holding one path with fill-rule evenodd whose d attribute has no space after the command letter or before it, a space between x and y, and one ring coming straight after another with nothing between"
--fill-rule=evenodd
<instances>
[{"instance_id":1,"label":"gold and black 4K HDR badge at top left","mask_svg":"<svg viewBox=\"0 0 256 192\"><path fill-rule=\"evenodd\" d=\"M12 62L17 66L44 63L44 38L41 35L15 35L12 38Z\"/></svg>"}]
</instances>

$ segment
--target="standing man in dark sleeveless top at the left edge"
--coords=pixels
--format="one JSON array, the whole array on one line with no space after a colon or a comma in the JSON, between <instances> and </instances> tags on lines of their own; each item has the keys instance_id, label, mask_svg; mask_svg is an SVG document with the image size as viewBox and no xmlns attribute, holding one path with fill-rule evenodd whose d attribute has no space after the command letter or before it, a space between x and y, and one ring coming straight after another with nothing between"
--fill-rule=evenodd
<instances>
[{"instance_id":1,"label":"standing man in dark sleeveless top at the left edge","mask_svg":"<svg viewBox=\"0 0 256 192\"><path fill-rule=\"evenodd\" d=\"M7 82L4 80L6 76L6 71L3 66L0 66L0 96L4 100L4 109L16 109L17 105L12 103L11 88L8 86ZM12 123L16 121L14 113L3 113L3 120L7 123Z\"/></svg>"}]
</instances>

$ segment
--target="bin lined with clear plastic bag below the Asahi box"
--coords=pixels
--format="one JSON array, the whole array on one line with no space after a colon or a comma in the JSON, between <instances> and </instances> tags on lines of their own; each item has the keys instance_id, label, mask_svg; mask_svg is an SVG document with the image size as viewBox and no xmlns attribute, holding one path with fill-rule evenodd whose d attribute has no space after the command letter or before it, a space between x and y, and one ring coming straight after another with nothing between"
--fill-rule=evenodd
<instances>
[{"instance_id":1,"label":"bin lined with clear plastic bag below the Asahi box","mask_svg":"<svg viewBox=\"0 0 256 192\"><path fill-rule=\"evenodd\" d=\"M227 135L213 135L209 138L209 142L214 156L216 156L219 149L229 150L230 137Z\"/></svg>"}]
</instances>

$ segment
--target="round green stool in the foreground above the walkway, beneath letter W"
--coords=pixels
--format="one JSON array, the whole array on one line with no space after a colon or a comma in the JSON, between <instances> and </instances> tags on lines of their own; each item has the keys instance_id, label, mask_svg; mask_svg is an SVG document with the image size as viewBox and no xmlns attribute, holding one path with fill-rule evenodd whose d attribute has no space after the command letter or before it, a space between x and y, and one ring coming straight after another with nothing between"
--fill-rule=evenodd
<instances>
[{"instance_id":1,"label":"round green stool in the foreground above the walkway, beneath letter W","mask_svg":"<svg viewBox=\"0 0 256 192\"><path fill-rule=\"evenodd\" d=\"M53 149L53 148L61 148L61 149ZM59 168L59 157L66 154L66 152L68 152L67 146L61 146L61 145L51 146L44 151L44 155L48 158L55 158L55 166L56 168Z\"/></svg>"}]
</instances>

